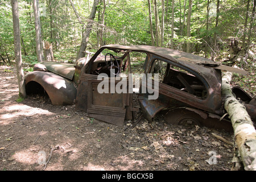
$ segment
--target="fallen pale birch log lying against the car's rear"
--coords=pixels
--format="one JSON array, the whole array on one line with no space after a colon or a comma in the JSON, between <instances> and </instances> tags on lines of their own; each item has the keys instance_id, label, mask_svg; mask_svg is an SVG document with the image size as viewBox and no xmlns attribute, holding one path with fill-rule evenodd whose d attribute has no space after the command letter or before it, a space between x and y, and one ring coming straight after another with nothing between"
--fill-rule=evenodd
<instances>
[{"instance_id":1,"label":"fallen pale birch log lying against the car's rear","mask_svg":"<svg viewBox=\"0 0 256 182\"><path fill-rule=\"evenodd\" d=\"M256 131L245 106L232 93L231 79L232 73L226 72L222 77L221 92L234 129L235 158L246 171L256 171Z\"/></svg>"}]
</instances>

